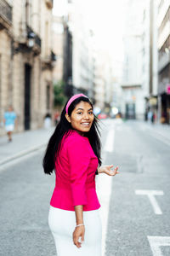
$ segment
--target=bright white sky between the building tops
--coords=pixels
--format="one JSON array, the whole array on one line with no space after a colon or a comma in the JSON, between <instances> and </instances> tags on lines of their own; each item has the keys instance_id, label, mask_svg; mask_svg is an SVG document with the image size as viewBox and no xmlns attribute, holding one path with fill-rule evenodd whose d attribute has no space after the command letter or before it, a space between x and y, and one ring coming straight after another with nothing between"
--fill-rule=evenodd
<instances>
[{"instance_id":1,"label":"bright white sky between the building tops","mask_svg":"<svg viewBox=\"0 0 170 256\"><path fill-rule=\"evenodd\" d=\"M124 0L74 0L77 1L87 25L94 30L99 49L106 49L114 59L122 60L123 1ZM54 15L66 14L66 0L54 1Z\"/></svg>"}]
</instances>

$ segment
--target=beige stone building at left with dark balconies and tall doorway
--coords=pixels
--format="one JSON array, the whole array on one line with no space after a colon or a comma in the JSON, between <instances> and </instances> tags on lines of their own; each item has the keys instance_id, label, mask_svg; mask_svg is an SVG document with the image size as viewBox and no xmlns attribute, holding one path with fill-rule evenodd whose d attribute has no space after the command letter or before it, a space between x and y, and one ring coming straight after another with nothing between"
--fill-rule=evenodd
<instances>
[{"instance_id":1,"label":"beige stone building at left with dark balconies and tall doorway","mask_svg":"<svg viewBox=\"0 0 170 256\"><path fill-rule=\"evenodd\" d=\"M10 104L17 131L37 129L53 108L53 1L0 0L0 6L1 122Z\"/></svg>"}]
</instances>

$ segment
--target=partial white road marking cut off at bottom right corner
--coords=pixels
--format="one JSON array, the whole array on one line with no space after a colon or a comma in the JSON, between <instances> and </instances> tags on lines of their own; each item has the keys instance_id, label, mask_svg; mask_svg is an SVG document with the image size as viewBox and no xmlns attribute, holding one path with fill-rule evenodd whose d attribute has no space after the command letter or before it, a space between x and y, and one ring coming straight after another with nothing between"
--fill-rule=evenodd
<instances>
[{"instance_id":1,"label":"partial white road marking cut off at bottom right corner","mask_svg":"<svg viewBox=\"0 0 170 256\"><path fill-rule=\"evenodd\" d=\"M147 236L154 256L163 256L160 247L170 247L170 236Z\"/></svg>"}]
</instances>

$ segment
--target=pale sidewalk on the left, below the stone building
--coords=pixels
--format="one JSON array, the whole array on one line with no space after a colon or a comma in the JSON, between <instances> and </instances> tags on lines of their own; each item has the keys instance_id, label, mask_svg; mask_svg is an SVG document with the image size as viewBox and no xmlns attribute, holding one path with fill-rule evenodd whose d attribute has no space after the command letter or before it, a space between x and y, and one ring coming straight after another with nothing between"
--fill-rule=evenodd
<instances>
[{"instance_id":1,"label":"pale sidewalk on the left, below the stone building","mask_svg":"<svg viewBox=\"0 0 170 256\"><path fill-rule=\"evenodd\" d=\"M48 130L24 131L14 134L11 143L8 143L7 137L0 137L0 166L42 148L48 143L53 131L54 127Z\"/></svg>"}]
</instances>

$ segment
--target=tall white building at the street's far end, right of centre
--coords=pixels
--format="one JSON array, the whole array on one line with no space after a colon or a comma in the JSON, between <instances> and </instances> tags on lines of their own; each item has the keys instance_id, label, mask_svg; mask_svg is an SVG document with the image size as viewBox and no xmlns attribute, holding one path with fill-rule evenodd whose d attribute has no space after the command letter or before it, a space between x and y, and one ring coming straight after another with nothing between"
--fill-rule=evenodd
<instances>
[{"instance_id":1,"label":"tall white building at the street's far end, right of centre","mask_svg":"<svg viewBox=\"0 0 170 256\"><path fill-rule=\"evenodd\" d=\"M126 119L144 119L144 88L142 86L143 10L144 1L126 1L122 70L122 114Z\"/></svg>"}]
</instances>

